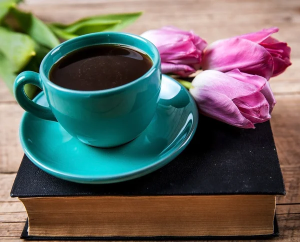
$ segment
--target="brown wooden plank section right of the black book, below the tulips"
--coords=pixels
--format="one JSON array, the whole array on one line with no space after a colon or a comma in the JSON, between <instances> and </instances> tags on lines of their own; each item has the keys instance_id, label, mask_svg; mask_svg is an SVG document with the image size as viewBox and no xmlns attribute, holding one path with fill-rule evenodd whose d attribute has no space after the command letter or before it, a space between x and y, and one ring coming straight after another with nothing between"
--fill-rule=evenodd
<instances>
[{"instance_id":1,"label":"brown wooden plank section right of the black book, below the tulips","mask_svg":"<svg viewBox=\"0 0 300 242\"><path fill-rule=\"evenodd\" d=\"M300 95L275 97L271 126L286 188L286 196L277 202L300 202Z\"/></svg>"}]
</instances>

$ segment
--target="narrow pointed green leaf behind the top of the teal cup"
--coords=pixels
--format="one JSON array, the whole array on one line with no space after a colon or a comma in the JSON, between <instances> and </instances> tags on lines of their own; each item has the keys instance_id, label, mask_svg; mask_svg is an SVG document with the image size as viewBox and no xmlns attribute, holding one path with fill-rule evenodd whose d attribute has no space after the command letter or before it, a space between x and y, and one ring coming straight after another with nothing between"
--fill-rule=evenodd
<instances>
[{"instance_id":1,"label":"narrow pointed green leaf behind the top of the teal cup","mask_svg":"<svg viewBox=\"0 0 300 242\"><path fill-rule=\"evenodd\" d=\"M59 37L65 39L66 37L70 38L67 33L81 35L100 31L118 31L134 22L141 14L142 12L97 15L80 19L71 24L52 23L51 29Z\"/></svg>"}]
</instances>

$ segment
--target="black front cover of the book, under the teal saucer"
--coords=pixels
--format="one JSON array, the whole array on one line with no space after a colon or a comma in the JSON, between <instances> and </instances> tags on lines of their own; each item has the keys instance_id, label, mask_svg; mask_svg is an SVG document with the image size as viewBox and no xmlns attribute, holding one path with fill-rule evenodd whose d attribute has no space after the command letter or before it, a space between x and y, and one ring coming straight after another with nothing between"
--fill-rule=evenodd
<instances>
[{"instance_id":1,"label":"black front cover of the book, under the teal saucer","mask_svg":"<svg viewBox=\"0 0 300 242\"><path fill-rule=\"evenodd\" d=\"M174 160L139 178L79 184L49 175L25 155L11 196L280 194L284 184L269 121L242 129L200 116Z\"/></svg>"}]
</instances>

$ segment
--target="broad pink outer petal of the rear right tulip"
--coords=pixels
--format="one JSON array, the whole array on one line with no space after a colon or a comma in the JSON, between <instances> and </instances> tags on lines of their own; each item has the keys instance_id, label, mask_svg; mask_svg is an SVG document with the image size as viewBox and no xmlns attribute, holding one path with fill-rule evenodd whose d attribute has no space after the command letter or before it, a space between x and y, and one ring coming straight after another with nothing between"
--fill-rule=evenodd
<instances>
[{"instance_id":1,"label":"broad pink outer petal of the rear right tulip","mask_svg":"<svg viewBox=\"0 0 300 242\"><path fill-rule=\"evenodd\" d=\"M221 39L208 45L202 55L202 69L226 72L235 68L269 79L273 72L271 54L262 46L247 39Z\"/></svg>"}]
</instances>

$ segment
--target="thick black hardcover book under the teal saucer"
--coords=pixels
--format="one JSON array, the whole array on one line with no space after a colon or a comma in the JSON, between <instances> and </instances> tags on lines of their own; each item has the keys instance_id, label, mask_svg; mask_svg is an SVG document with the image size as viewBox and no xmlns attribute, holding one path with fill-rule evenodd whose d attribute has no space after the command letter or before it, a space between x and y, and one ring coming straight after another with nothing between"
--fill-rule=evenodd
<instances>
[{"instance_id":1,"label":"thick black hardcover book under the teal saucer","mask_svg":"<svg viewBox=\"0 0 300 242\"><path fill-rule=\"evenodd\" d=\"M145 176L79 184L23 157L11 196L24 204L27 239L237 239L278 235L284 183L269 121L241 129L200 116L174 160ZM253 237L254 236L254 237Z\"/></svg>"}]
</instances>

